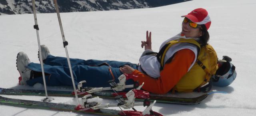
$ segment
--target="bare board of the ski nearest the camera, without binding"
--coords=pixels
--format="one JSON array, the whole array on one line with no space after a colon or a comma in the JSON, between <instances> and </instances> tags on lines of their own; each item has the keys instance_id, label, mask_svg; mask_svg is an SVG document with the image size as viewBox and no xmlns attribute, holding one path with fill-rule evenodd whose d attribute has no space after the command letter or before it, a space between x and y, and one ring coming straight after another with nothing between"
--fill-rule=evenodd
<instances>
[{"instance_id":1,"label":"bare board of the ski nearest the camera, without binding","mask_svg":"<svg viewBox=\"0 0 256 116\"><path fill-rule=\"evenodd\" d=\"M45 109L45 110L75 112L75 113L82 113L82 114L92 114L92 115L98 115L98 116L124 116L124 113L126 113L126 115L129 116L129 112L136 112L140 114L136 116L155 116L155 115L142 115L142 112L139 112L139 111L123 111L122 112L121 110L112 110L112 109L105 109L105 108L101 108L98 110L77 110L76 105L32 101L32 100L20 100L20 99L6 98L2 96L0 96L0 104L8 105L8 106L23 107L23 108L36 108L36 109ZM156 116L162 116L161 114L159 115L158 114L156 113Z\"/></svg>"}]
</instances>

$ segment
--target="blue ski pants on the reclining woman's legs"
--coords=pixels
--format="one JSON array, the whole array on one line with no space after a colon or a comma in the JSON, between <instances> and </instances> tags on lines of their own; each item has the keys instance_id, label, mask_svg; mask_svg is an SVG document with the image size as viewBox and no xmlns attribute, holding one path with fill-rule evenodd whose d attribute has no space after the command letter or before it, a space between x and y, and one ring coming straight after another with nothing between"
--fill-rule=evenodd
<instances>
[{"instance_id":1,"label":"blue ski pants on the reclining woman's legs","mask_svg":"<svg viewBox=\"0 0 256 116\"><path fill-rule=\"evenodd\" d=\"M44 62L44 72L46 85L48 86L72 86L72 79L70 76L70 70L68 68L67 58L56 57L48 55ZM119 68L124 65L129 65L134 69L138 69L137 64L130 62L118 62L110 60L81 60L70 58L72 66L72 72L74 76L74 82L77 85L78 82L86 80L86 84L83 86L90 87L109 87L109 80L113 77L109 71L111 66L112 73L115 77L115 81L118 82L118 77L123 74ZM107 63L109 66L97 66L102 63ZM35 72L42 72L41 65L36 63L28 64L27 68ZM43 77L39 76L26 81L28 85L33 86L36 83L44 84ZM133 80L127 80L126 85L133 84Z\"/></svg>"}]
</instances>

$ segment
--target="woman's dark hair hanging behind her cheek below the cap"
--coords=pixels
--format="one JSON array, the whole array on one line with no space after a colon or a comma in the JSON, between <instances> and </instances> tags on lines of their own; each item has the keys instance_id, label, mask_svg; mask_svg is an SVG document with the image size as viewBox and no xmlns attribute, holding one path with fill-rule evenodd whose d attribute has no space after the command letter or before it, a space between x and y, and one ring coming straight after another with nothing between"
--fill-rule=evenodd
<instances>
[{"instance_id":1,"label":"woman's dark hair hanging behind her cheek below the cap","mask_svg":"<svg viewBox=\"0 0 256 116\"><path fill-rule=\"evenodd\" d=\"M209 32L207 31L207 28L204 24L200 25L201 28L200 28L200 32L202 32L202 36L200 36L200 44L201 46L205 46L206 44L208 44L207 42L209 41L210 39L210 35L209 35Z\"/></svg>"}]
</instances>

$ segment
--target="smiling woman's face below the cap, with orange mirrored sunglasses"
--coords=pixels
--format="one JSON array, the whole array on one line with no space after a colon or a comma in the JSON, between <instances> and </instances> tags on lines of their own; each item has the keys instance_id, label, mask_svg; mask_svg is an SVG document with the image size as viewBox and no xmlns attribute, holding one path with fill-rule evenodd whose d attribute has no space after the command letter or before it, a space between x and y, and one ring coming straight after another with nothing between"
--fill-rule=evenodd
<instances>
[{"instance_id":1,"label":"smiling woman's face below the cap, with orange mirrored sunglasses","mask_svg":"<svg viewBox=\"0 0 256 116\"><path fill-rule=\"evenodd\" d=\"M189 25L189 22L182 22L182 34L184 34L186 37L190 37L190 38L199 38L200 36L202 36L202 32L200 31L199 28L192 28Z\"/></svg>"}]
</instances>

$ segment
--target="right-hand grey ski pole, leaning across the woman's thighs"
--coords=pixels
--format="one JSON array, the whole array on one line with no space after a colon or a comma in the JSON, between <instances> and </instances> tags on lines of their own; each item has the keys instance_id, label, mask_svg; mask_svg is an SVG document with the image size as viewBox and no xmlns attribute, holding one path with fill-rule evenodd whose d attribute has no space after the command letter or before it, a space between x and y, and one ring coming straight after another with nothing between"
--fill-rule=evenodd
<instances>
[{"instance_id":1,"label":"right-hand grey ski pole, leaning across the woman's thighs","mask_svg":"<svg viewBox=\"0 0 256 116\"><path fill-rule=\"evenodd\" d=\"M61 32L61 35L62 35L63 46L64 46L65 51L66 51L66 56L67 56L67 60L68 60L68 67L69 67L69 70L70 70L70 75L71 75L72 84L73 84L73 88L74 88L74 92L75 92L75 96L76 96L76 101L77 101L77 104L79 104L78 96L77 96L77 93L76 93L76 86L75 86L75 82L74 82L74 76L73 76L73 72L72 72L72 68L71 68L71 64L70 64L70 59L69 59L69 56L68 56L68 48L67 48L68 42L65 40L65 36L64 36L63 28L62 28L62 23L61 23L61 20L60 20L60 11L59 11L59 8L58 8L57 0L54 0L54 4L55 4L55 7L56 7L56 13L57 13L58 21L59 21L59 24L60 24L60 32Z\"/></svg>"}]
</instances>

